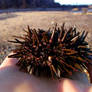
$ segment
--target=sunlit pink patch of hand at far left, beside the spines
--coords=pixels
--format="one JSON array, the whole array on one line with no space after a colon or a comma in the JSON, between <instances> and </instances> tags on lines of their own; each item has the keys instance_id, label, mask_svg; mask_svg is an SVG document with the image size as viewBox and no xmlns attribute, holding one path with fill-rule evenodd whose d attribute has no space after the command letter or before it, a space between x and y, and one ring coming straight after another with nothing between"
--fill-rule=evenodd
<instances>
[{"instance_id":1,"label":"sunlit pink patch of hand at far left, beside the spines","mask_svg":"<svg viewBox=\"0 0 92 92\"><path fill-rule=\"evenodd\" d=\"M10 53L9 55L12 55L14 53ZM2 62L0 67L6 67L6 66L15 66L18 60L16 58L8 58L8 56L5 58L5 60Z\"/></svg>"}]
</instances>

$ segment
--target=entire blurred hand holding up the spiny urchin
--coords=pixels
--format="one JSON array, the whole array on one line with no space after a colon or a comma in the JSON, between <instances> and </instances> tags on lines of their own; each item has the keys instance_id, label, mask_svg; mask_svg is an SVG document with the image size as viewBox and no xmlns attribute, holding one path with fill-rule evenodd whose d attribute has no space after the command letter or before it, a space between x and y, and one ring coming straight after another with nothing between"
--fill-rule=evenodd
<instances>
[{"instance_id":1,"label":"entire blurred hand holding up the spiny urchin","mask_svg":"<svg viewBox=\"0 0 92 92\"><path fill-rule=\"evenodd\" d=\"M0 92L92 92L91 84L69 79L48 80L20 72L17 62L17 59L6 57L1 64Z\"/></svg>"}]
</instances>

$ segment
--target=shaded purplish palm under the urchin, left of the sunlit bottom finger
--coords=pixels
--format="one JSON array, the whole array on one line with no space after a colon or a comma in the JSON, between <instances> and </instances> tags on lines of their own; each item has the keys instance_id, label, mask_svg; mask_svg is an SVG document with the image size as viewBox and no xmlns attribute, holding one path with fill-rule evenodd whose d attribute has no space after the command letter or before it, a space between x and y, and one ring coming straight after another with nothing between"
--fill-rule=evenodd
<instances>
[{"instance_id":1,"label":"shaded purplish palm under the urchin, left of the sunlit bottom finger","mask_svg":"<svg viewBox=\"0 0 92 92\"><path fill-rule=\"evenodd\" d=\"M0 92L56 92L56 84L22 73L15 65L0 69Z\"/></svg>"}]
</instances>

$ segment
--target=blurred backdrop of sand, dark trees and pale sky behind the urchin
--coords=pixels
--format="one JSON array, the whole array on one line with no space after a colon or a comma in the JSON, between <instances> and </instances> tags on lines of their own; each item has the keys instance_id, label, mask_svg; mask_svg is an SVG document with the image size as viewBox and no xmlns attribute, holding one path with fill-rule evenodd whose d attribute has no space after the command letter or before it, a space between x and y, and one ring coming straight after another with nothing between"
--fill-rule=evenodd
<instances>
[{"instance_id":1,"label":"blurred backdrop of sand, dark trees and pale sky behind the urchin","mask_svg":"<svg viewBox=\"0 0 92 92\"><path fill-rule=\"evenodd\" d=\"M15 48L8 40L24 34L27 25L48 30L63 22L66 28L88 31L86 40L92 48L92 0L0 0L0 63Z\"/></svg>"}]
</instances>

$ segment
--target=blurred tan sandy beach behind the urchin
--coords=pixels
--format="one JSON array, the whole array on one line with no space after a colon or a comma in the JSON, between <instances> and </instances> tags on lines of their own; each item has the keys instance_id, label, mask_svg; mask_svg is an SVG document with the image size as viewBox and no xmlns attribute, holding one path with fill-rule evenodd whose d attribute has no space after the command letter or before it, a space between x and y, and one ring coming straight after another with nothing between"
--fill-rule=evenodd
<instances>
[{"instance_id":1,"label":"blurred tan sandy beach behind the urchin","mask_svg":"<svg viewBox=\"0 0 92 92\"><path fill-rule=\"evenodd\" d=\"M24 34L23 29L40 28L48 30L53 26L53 23L58 23L59 26L63 22L66 27L75 26L78 31L88 31L87 41L92 48L92 13L82 14L68 11L16 11L0 13L0 62L5 56L11 52L13 44L8 40L13 40L13 35Z\"/></svg>"}]
</instances>

